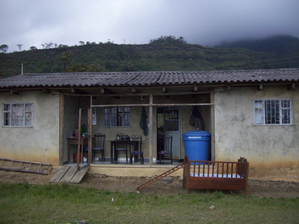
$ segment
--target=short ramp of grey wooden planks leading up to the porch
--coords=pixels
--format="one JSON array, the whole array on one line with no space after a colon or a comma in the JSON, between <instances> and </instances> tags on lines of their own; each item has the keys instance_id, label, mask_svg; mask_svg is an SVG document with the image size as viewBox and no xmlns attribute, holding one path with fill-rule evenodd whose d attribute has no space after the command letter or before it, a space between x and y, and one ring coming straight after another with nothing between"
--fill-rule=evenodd
<instances>
[{"instance_id":1,"label":"short ramp of grey wooden planks leading up to the porch","mask_svg":"<svg viewBox=\"0 0 299 224\"><path fill-rule=\"evenodd\" d=\"M77 166L64 165L53 175L50 179L50 183L80 183L88 170L88 165L80 166L79 171L77 171Z\"/></svg>"}]
</instances>

